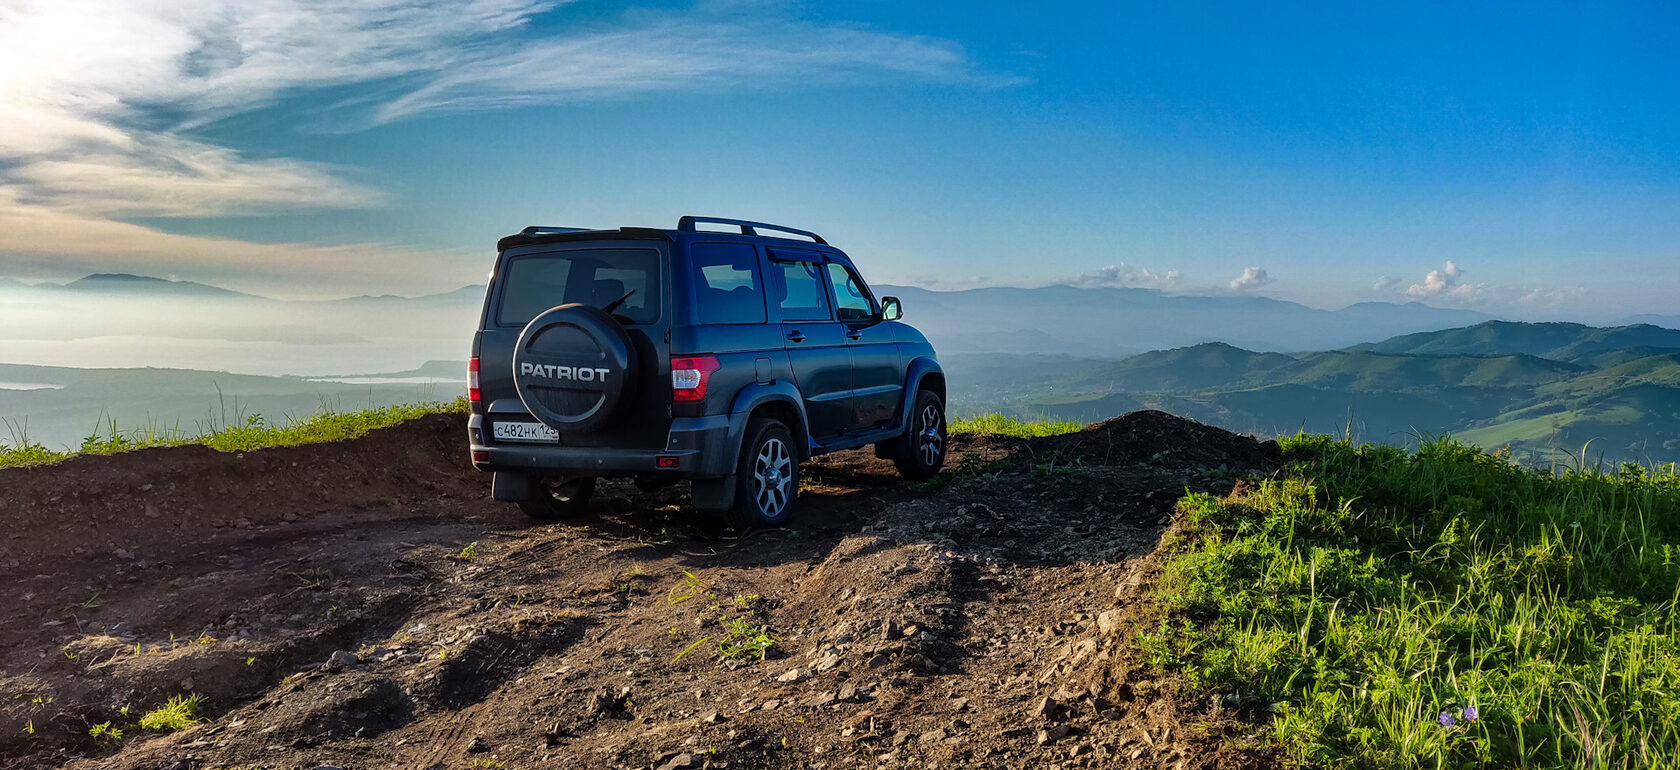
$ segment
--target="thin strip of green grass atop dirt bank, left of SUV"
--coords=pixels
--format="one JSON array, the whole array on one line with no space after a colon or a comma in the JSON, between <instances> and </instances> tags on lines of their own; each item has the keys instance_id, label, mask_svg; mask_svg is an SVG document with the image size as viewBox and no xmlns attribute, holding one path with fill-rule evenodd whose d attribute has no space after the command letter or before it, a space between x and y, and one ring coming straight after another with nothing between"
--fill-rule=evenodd
<instances>
[{"instance_id":1,"label":"thin strip of green grass atop dirt bank, left of SUV","mask_svg":"<svg viewBox=\"0 0 1680 770\"><path fill-rule=\"evenodd\" d=\"M223 425L198 435L186 435L175 429L158 430L153 427L136 430L119 430L116 424L104 430L96 430L82 440L76 451L59 452L27 437L15 444L0 442L0 467L40 466L57 462L77 454L118 454L146 447L176 447L185 444L203 444L220 452L244 452L262 447L286 447L296 444L316 444L324 440L354 439L368 430L395 425L403 420L428 414L465 414L467 400L457 398L450 403L405 403L396 407L366 409L360 412L321 412L311 417L289 419L281 424L269 424L262 415L250 415L244 424Z\"/></svg>"}]
</instances>

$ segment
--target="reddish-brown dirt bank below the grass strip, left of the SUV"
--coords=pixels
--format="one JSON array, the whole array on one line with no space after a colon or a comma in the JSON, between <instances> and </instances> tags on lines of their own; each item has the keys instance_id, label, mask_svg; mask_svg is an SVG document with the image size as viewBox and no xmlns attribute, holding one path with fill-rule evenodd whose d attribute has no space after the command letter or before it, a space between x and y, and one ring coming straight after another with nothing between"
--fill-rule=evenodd
<instances>
[{"instance_id":1,"label":"reddish-brown dirt bank below the grass strip, left of the SUV","mask_svg":"<svg viewBox=\"0 0 1680 770\"><path fill-rule=\"evenodd\" d=\"M0 521L7 525L0 575L156 543L202 543L223 530L482 491L460 415L257 452L183 446L8 467L0 469Z\"/></svg>"}]
</instances>

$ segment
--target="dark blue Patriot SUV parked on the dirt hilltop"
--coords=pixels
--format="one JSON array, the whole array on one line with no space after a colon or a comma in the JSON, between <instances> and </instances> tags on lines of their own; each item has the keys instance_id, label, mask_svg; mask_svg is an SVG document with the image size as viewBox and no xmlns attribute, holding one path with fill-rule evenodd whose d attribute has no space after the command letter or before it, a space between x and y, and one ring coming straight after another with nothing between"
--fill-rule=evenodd
<instances>
[{"instance_id":1,"label":"dark blue Patriot SUV parked on the dirt hilltop","mask_svg":"<svg viewBox=\"0 0 1680 770\"><path fill-rule=\"evenodd\" d=\"M689 481L696 509L746 531L786 523L813 456L872 444L909 479L944 464L932 346L813 232L682 217L496 249L467 365L496 499L554 519L598 477Z\"/></svg>"}]
</instances>

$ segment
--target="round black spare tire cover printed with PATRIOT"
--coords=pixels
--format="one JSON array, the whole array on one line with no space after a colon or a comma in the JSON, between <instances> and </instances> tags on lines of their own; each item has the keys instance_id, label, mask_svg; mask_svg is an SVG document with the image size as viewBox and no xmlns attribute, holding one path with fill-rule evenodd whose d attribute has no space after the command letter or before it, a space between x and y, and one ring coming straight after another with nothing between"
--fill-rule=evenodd
<instances>
[{"instance_id":1,"label":"round black spare tire cover printed with PATRIOT","mask_svg":"<svg viewBox=\"0 0 1680 770\"><path fill-rule=\"evenodd\" d=\"M549 308L519 333L514 388L556 430L596 429L635 393L630 335L600 308Z\"/></svg>"}]
</instances>

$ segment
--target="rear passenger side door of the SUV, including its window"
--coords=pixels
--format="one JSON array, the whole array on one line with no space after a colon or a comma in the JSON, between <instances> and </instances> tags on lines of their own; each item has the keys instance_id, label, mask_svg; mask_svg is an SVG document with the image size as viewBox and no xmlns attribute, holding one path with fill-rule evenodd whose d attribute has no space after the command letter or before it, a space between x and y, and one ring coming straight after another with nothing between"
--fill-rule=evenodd
<instances>
[{"instance_id":1,"label":"rear passenger side door of the SUV, including its window","mask_svg":"<svg viewBox=\"0 0 1680 770\"><path fill-rule=\"evenodd\" d=\"M811 439L827 444L857 425L847 324L835 319L823 256L769 251L771 286L781 308L781 338L805 398Z\"/></svg>"}]
</instances>

